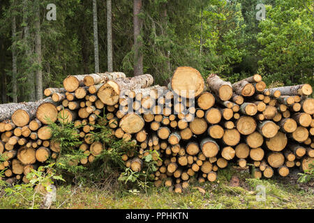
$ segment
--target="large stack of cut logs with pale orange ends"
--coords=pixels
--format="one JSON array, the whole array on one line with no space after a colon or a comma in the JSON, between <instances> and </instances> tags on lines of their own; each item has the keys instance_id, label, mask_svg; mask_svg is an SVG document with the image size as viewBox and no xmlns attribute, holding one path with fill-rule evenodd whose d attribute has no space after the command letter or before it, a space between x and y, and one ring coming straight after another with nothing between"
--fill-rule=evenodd
<instances>
[{"instance_id":1,"label":"large stack of cut logs with pale orange ends","mask_svg":"<svg viewBox=\"0 0 314 223\"><path fill-rule=\"evenodd\" d=\"M170 84L153 85L151 75L126 77L122 72L73 75L61 89L45 89L38 102L0 105L0 153L6 178L22 179L30 169L57 158L49 121L73 121L80 127L87 155L93 162L106 145L91 141L94 124L108 125L118 139L135 141L138 153L122 156L126 167L142 170L142 158L156 151L155 185L188 187L190 177L216 180L218 169L252 164L255 178L277 171L308 169L314 161L314 99L309 84L266 89L260 75L231 84L218 75L206 82L190 67L174 71ZM103 116L105 111L105 123ZM66 120L64 118L66 117ZM158 154L158 155L157 155ZM161 158L158 159L158 157Z\"/></svg>"}]
</instances>

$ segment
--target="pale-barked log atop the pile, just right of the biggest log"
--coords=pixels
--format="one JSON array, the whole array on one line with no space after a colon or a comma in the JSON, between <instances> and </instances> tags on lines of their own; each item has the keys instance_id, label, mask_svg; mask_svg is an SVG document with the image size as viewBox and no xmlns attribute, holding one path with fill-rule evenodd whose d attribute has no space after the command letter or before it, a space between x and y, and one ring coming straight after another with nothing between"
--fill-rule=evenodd
<instances>
[{"instance_id":1,"label":"pale-barked log atop the pile, just right of the biggest log","mask_svg":"<svg viewBox=\"0 0 314 223\"><path fill-rule=\"evenodd\" d=\"M230 82L225 82L223 79L220 79L218 75L211 74L207 78L207 84L209 89L216 93L220 100L230 100L232 98L232 85Z\"/></svg>"}]
</instances>

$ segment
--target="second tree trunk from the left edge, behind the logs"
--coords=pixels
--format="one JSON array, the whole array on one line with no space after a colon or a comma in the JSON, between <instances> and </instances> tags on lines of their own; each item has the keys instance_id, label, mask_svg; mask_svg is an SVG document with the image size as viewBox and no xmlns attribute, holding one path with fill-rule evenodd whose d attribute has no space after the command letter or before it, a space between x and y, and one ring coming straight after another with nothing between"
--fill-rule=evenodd
<instances>
[{"instance_id":1,"label":"second tree trunk from the left edge, behind the logs","mask_svg":"<svg viewBox=\"0 0 314 223\"><path fill-rule=\"evenodd\" d=\"M24 23L24 44L27 45L27 49L26 49L26 56L27 56L27 63L29 63L27 65L27 67L30 67L33 63L32 59L31 59L31 41L30 41L30 35L29 35L29 24L28 24L28 0L23 0L23 23ZM36 97L35 97L35 80L33 77L33 71L32 70L28 70L28 75L27 75L27 89L29 90L27 93L29 93L29 101L35 101Z\"/></svg>"}]
</instances>

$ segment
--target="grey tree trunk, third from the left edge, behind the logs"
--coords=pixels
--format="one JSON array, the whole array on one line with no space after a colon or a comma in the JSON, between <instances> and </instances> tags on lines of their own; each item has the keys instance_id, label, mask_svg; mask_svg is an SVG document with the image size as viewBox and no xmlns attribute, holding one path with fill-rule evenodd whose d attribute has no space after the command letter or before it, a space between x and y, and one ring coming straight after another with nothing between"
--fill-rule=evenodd
<instances>
[{"instance_id":1,"label":"grey tree trunk, third from the left edge, behind the logs","mask_svg":"<svg viewBox=\"0 0 314 223\"><path fill-rule=\"evenodd\" d=\"M43 70L41 69L41 36L40 36L40 5L39 1L36 4L36 21L35 21L35 52L37 56L37 70L36 70L36 99L43 99Z\"/></svg>"}]
</instances>

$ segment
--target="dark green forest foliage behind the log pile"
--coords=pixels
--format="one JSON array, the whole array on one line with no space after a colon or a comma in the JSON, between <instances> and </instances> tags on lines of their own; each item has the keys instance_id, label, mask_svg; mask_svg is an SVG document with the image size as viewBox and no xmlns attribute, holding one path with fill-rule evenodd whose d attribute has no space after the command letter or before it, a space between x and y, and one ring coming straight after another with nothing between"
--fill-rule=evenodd
<instances>
[{"instance_id":1,"label":"dark green forest foliage behind the log pile","mask_svg":"<svg viewBox=\"0 0 314 223\"><path fill-rule=\"evenodd\" d=\"M22 0L0 3L1 102L12 101L12 45L17 45L18 100L27 100L27 75L38 69L26 56L33 49L35 6L27 0L30 38L24 38ZM40 1L43 87L61 87L67 75L94 72L92 2L54 1L57 21L47 21ZM256 20L257 3L266 6L266 20ZM98 1L100 71L107 70L106 2ZM17 35L12 39L15 16ZM313 1L293 0L147 0L143 1L140 38L144 72L156 84L167 84L177 66L193 66L204 77L215 72L231 82L259 72L267 84L308 82L313 86ZM133 6L112 1L115 71L133 76Z\"/></svg>"}]
</instances>

